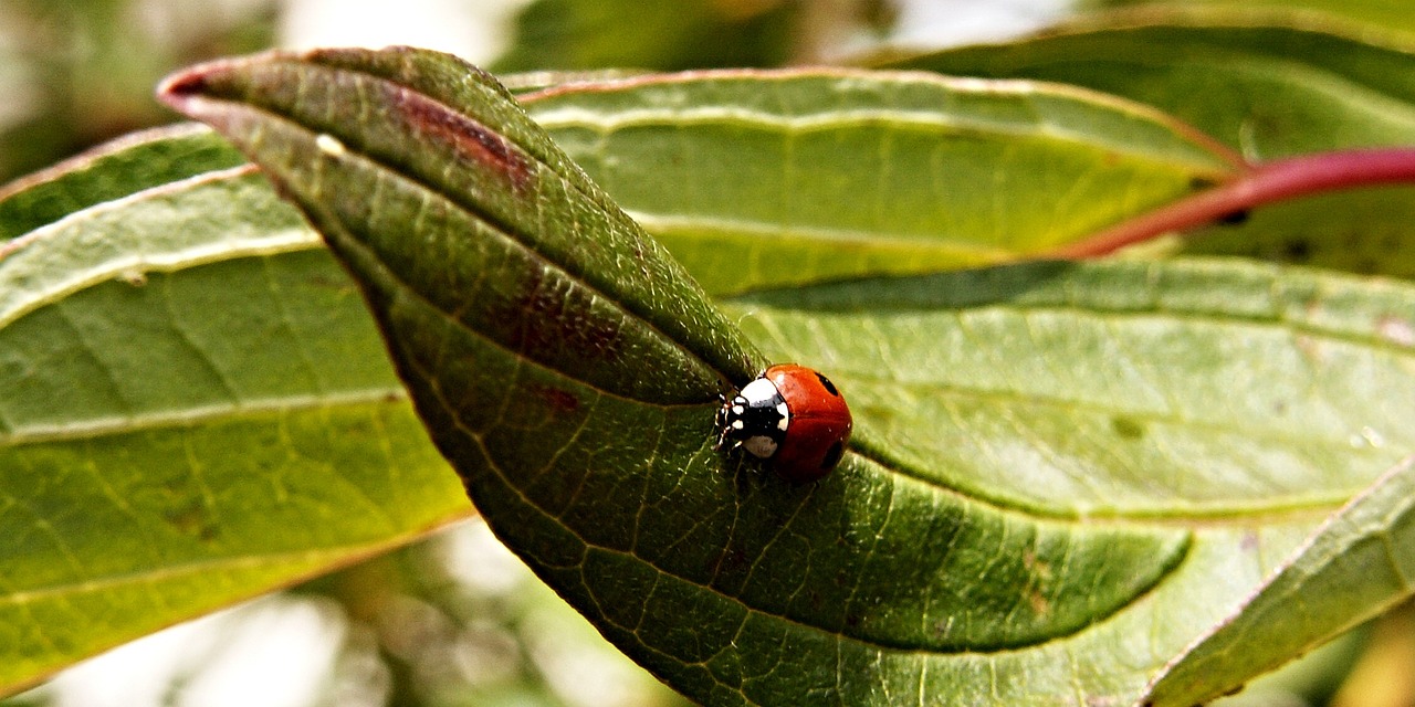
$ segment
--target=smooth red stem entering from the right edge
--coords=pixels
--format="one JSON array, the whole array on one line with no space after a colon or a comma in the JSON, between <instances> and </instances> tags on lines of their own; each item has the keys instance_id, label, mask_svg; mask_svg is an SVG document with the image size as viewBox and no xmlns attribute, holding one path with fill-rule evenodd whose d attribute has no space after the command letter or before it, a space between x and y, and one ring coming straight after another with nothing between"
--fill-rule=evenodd
<instances>
[{"instance_id":1,"label":"smooth red stem entering from the right edge","mask_svg":"<svg viewBox=\"0 0 1415 707\"><path fill-rule=\"evenodd\" d=\"M1324 191L1415 182L1415 150L1317 153L1258 164L1234 181L1125 221L1046 253L1046 257L1098 257L1173 230L1213 223L1254 206Z\"/></svg>"}]
</instances>

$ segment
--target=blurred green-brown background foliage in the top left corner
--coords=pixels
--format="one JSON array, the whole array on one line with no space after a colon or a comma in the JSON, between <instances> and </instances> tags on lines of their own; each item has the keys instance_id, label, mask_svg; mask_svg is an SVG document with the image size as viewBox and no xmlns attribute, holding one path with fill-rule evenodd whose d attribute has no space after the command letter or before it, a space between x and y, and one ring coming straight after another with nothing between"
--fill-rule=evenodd
<instances>
[{"instance_id":1,"label":"blurred green-brown background foliage in the top left corner","mask_svg":"<svg viewBox=\"0 0 1415 707\"><path fill-rule=\"evenodd\" d=\"M0 182L168 123L153 85L194 61L267 48L279 3L7 0L0 6Z\"/></svg>"}]
</instances>

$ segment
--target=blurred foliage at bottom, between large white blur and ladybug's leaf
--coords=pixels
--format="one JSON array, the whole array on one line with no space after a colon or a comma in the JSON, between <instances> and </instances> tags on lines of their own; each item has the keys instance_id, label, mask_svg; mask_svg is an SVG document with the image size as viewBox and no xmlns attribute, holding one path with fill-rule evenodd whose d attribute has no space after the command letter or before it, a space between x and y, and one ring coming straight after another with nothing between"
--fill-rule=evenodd
<instances>
[{"instance_id":1,"label":"blurred foliage at bottom, between large white blur and ladybug's leaf","mask_svg":"<svg viewBox=\"0 0 1415 707\"><path fill-rule=\"evenodd\" d=\"M600 638L480 520L293 592L344 607L351 638L340 667L386 684L392 707L688 704Z\"/></svg>"}]
</instances>

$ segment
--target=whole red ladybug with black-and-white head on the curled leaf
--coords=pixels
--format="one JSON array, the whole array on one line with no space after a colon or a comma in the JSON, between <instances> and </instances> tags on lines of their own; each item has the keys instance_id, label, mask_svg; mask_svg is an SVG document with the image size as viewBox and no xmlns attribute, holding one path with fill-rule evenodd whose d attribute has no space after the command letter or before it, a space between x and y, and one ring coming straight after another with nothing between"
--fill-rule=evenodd
<instances>
[{"instance_id":1,"label":"whole red ladybug with black-and-white head on the curled leaf","mask_svg":"<svg viewBox=\"0 0 1415 707\"><path fill-rule=\"evenodd\" d=\"M741 447L790 481L815 481L841 462L852 426L850 407L831 379L782 363L723 396L717 448Z\"/></svg>"}]
</instances>

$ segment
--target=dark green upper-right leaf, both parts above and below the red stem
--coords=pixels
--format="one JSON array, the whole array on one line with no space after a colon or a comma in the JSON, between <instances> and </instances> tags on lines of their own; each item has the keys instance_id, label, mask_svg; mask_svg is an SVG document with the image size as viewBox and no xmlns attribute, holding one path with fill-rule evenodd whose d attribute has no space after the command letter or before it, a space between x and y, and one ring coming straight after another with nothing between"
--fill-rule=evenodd
<instances>
[{"instance_id":1,"label":"dark green upper-right leaf, both parts above and below the red stem","mask_svg":"<svg viewBox=\"0 0 1415 707\"><path fill-rule=\"evenodd\" d=\"M1254 161L1415 143L1415 44L1343 25L1220 11L1149 11L1002 45L889 62L942 74L1088 86L1149 103ZM1415 189L1374 188L1255 211L1193 253L1415 276Z\"/></svg>"}]
</instances>

